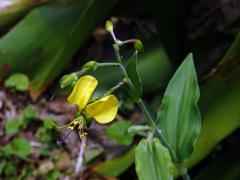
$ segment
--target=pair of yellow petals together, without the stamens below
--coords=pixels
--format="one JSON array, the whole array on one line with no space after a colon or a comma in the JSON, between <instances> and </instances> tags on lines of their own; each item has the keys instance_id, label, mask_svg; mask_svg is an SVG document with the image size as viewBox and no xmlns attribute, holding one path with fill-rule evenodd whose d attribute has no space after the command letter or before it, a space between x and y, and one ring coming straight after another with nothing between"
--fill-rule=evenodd
<instances>
[{"instance_id":1,"label":"pair of yellow petals together, without the stamens below","mask_svg":"<svg viewBox=\"0 0 240 180\"><path fill-rule=\"evenodd\" d=\"M88 104L97 84L98 81L92 76L81 77L69 95L68 101L78 105L80 112L89 118L94 118L98 123L109 123L117 114L118 99L114 95L109 95Z\"/></svg>"}]
</instances>

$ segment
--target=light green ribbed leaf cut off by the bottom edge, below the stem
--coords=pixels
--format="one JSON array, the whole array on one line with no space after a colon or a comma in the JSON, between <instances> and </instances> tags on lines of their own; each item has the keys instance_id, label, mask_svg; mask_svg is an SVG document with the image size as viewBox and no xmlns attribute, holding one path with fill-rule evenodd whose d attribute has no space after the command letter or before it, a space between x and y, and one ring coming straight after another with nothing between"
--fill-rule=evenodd
<instances>
[{"instance_id":1,"label":"light green ribbed leaf cut off by the bottom edge, below the stem","mask_svg":"<svg viewBox=\"0 0 240 180\"><path fill-rule=\"evenodd\" d=\"M141 140L135 151L139 180L171 180L172 161L168 150L158 139Z\"/></svg>"}]
</instances>

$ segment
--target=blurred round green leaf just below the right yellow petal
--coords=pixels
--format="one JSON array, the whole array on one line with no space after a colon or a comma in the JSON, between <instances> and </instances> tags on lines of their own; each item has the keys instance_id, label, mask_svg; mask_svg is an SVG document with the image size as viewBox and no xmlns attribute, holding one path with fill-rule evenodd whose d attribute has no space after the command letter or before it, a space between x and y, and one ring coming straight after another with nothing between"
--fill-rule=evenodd
<instances>
[{"instance_id":1,"label":"blurred round green leaf just below the right yellow petal","mask_svg":"<svg viewBox=\"0 0 240 180\"><path fill-rule=\"evenodd\" d=\"M133 135L128 133L132 125L130 121L116 121L106 128L106 135L122 145L130 145L133 142Z\"/></svg>"}]
</instances>

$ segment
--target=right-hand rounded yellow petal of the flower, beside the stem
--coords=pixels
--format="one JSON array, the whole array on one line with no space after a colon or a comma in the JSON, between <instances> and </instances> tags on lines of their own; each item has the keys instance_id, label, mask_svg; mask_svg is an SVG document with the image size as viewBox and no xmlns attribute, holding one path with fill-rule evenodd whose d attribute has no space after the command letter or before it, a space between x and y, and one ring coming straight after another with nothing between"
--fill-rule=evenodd
<instances>
[{"instance_id":1,"label":"right-hand rounded yellow petal of the flower, beside the stem","mask_svg":"<svg viewBox=\"0 0 240 180\"><path fill-rule=\"evenodd\" d=\"M114 120L118 110L118 99L114 95L106 96L87 105L87 116L95 118L100 124Z\"/></svg>"}]
</instances>

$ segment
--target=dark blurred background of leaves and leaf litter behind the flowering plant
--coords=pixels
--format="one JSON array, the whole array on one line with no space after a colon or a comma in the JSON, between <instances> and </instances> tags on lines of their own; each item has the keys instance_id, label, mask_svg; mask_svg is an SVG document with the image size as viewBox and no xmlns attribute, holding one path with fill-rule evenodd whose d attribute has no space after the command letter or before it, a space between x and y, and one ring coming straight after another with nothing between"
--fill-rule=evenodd
<instances>
[{"instance_id":1,"label":"dark blurred background of leaves and leaf litter behind the flowering plant","mask_svg":"<svg viewBox=\"0 0 240 180\"><path fill-rule=\"evenodd\" d=\"M123 99L120 121L106 129L93 125L89 131L84 175L72 170L78 139L57 147L61 134L48 123L64 122L74 114L74 108L63 103L64 93L48 101L58 92L62 75L88 60L114 59L103 25L111 18L120 39L144 42L139 71L153 113L175 69L193 53L202 131L187 166L194 179L239 179L239 17L238 0L0 0L0 177L136 178L134 147L139 137L126 129L145 121L124 93L118 94ZM122 53L130 57L132 51L129 46ZM94 75L99 93L120 79L114 68ZM119 126L123 131L116 133Z\"/></svg>"}]
</instances>

